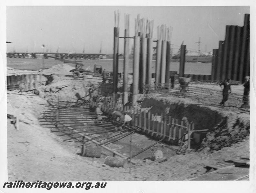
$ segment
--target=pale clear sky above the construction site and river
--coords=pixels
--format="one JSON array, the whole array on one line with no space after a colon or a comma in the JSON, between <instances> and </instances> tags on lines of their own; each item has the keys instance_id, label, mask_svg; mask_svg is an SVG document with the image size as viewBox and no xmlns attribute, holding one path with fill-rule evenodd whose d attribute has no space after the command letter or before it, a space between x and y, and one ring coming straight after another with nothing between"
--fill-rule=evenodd
<instances>
[{"instance_id":1,"label":"pale clear sky above the construction site and river","mask_svg":"<svg viewBox=\"0 0 256 193\"><path fill-rule=\"evenodd\" d=\"M49 51L113 54L114 11L121 13L120 36L123 36L124 14L131 14L130 35L134 35L137 14L154 20L153 38L157 25L173 27L172 47L177 50L184 41L187 48L212 51L225 38L226 25L243 26L249 6L7 6L7 52ZM132 40L131 43L132 44ZM207 45L207 46L206 46ZM120 53L123 40L120 39Z\"/></svg>"}]
</instances>

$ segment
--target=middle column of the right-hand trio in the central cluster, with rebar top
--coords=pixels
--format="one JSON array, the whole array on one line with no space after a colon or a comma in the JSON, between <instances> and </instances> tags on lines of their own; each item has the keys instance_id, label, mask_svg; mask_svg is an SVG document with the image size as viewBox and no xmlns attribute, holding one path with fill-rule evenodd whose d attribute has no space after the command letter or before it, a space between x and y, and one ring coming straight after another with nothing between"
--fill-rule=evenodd
<instances>
[{"instance_id":1,"label":"middle column of the right-hand trio in the central cluster, with rebar top","mask_svg":"<svg viewBox=\"0 0 256 193\"><path fill-rule=\"evenodd\" d=\"M166 74L166 25L162 25L162 58L161 58L161 84L165 83Z\"/></svg>"}]
</instances>

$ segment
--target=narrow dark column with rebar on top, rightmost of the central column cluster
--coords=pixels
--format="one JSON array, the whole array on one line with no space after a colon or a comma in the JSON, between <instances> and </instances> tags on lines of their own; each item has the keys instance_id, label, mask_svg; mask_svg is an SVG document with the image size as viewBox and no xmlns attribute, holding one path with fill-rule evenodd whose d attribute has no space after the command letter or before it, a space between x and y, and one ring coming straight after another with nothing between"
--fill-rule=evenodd
<instances>
[{"instance_id":1,"label":"narrow dark column with rebar on top, rightmost of the central column cluster","mask_svg":"<svg viewBox=\"0 0 256 193\"><path fill-rule=\"evenodd\" d=\"M165 67L165 84L170 82L170 59L171 59L171 38L172 38L172 27L167 28L167 42L166 42L166 67Z\"/></svg>"}]
</instances>

